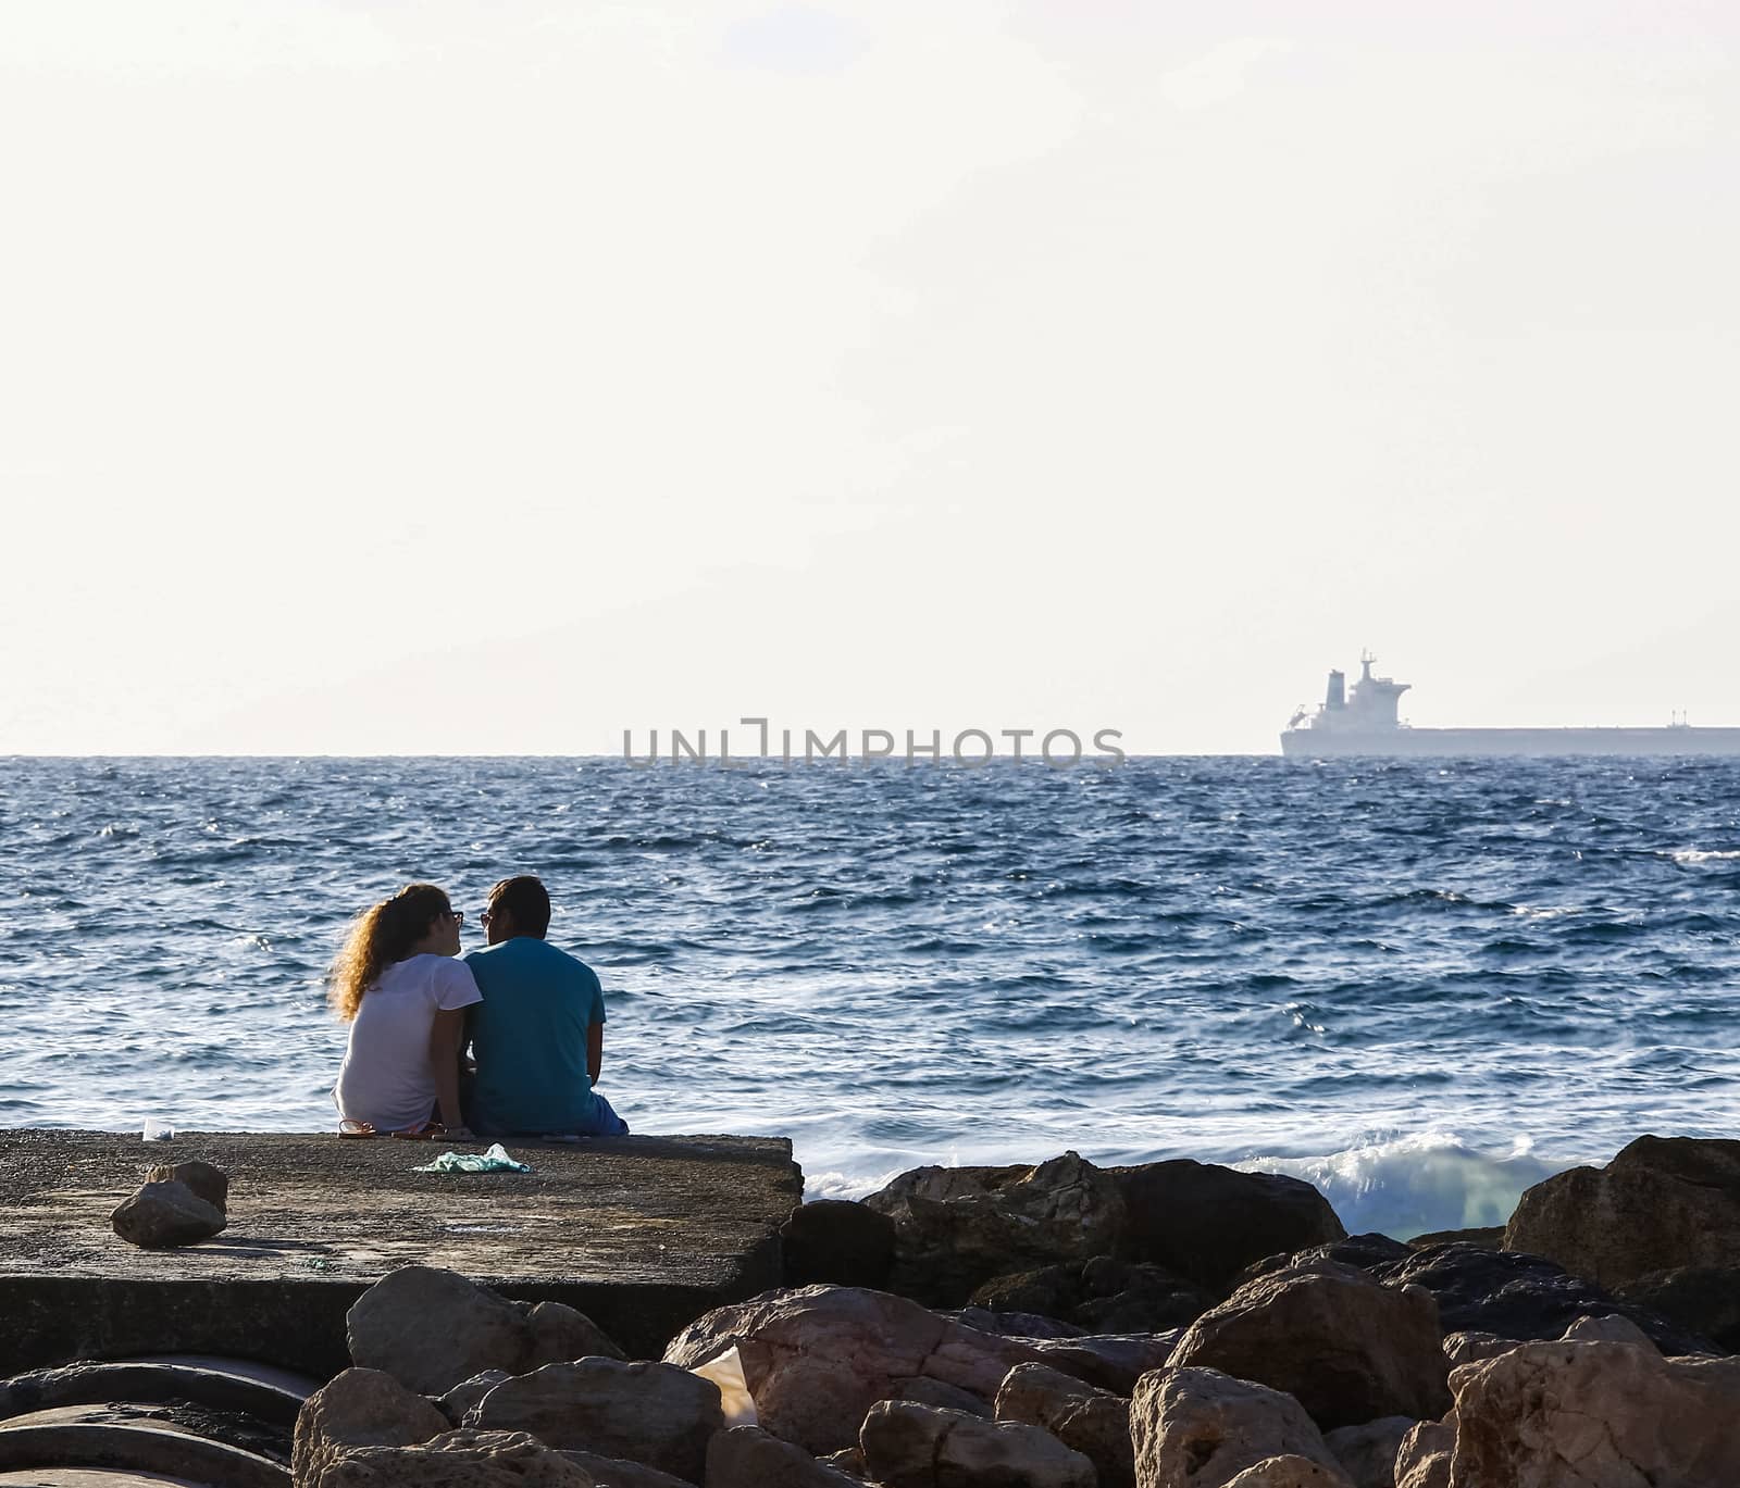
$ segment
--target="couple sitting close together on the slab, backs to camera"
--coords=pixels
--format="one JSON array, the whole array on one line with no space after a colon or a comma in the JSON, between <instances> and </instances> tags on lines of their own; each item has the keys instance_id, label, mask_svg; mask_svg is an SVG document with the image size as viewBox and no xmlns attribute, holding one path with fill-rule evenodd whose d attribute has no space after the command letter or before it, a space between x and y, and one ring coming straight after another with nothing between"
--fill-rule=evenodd
<instances>
[{"instance_id":1,"label":"couple sitting close together on the slab, backs to camera","mask_svg":"<svg viewBox=\"0 0 1740 1488\"><path fill-rule=\"evenodd\" d=\"M536 878L489 890L489 944L459 956L459 925L433 883L364 911L332 965L350 1045L332 1099L348 1137L621 1137L592 1086L604 1059L593 970L545 940ZM470 1059L466 1046L470 1045Z\"/></svg>"}]
</instances>

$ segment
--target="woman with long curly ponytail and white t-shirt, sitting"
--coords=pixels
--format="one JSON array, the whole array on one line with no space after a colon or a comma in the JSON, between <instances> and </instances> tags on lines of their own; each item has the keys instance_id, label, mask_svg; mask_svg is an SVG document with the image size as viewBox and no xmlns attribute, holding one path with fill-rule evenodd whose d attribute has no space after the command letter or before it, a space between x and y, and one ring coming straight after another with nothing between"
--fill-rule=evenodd
<instances>
[{"instance_id":1,"label":"woman with long curly ponytail and white t-shirt, sitting","mask_svg":"<svg viewBox=\"0 0 1740 1488\"><path fill-rule=\"evenodd\" d=\"M331 1001L350 1024L332 1099L346 1135L454 1137L465 1008L480 1003L459 954L459 921L433 883L400 888L364 911L332 963ZM435 1118L442 1125L437 1125Z\"/></svg>"}]
</instances>

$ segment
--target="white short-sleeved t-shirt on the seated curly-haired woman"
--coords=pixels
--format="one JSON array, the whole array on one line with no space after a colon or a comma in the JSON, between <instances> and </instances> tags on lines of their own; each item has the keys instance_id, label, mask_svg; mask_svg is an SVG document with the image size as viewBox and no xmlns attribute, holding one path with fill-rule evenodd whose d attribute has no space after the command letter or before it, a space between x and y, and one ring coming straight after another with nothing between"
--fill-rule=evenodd
<instances>
[{"instance_id":1,"label":"white short-sleeved t-shirt on the seated curly-haired woman","mask_svg":"<svg viewBox=\"0 0 1740 1488\"><path fill-rule=\"evenodd\" d=\"M404 1132L435 1113L430 1029L437 1008L484 1001L465 961L411 956L395 961L362 994L350 1024L350 1045L332 1099L339 1116L367 1121L376 1132Z\"/></svg>"}]
</instances>

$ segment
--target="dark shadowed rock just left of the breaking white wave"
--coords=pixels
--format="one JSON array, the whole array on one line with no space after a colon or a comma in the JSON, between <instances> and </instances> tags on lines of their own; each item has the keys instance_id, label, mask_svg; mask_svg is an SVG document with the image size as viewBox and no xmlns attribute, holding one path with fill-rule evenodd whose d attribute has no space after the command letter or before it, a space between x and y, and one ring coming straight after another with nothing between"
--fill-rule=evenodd
<instances>
[{"instance_id":1,"label":"dark shadowed rock just left of the breaking white wave","mask_svg":"<svg viewBox=\"0 0 1740 1488\"><path fill-rule=\"evenodd\" d=\"M1110 1173L1126 1208L1115 1253L1164 1265L1216 1297L1253 1260L1347 1236L1317 1189L1279 1173L1188 1158Z\"/></svg>"}]
</instances>

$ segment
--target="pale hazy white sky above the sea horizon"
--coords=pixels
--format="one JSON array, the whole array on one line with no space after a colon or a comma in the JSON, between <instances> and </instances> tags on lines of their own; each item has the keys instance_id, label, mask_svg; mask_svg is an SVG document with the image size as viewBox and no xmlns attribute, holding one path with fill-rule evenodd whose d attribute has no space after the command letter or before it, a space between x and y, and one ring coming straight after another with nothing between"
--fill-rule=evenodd
<instances>
[{"instance_id":1,"label":"pale hazy white sky above the sea horizon","mask_svg":"<svg viewBox=\"0 0 1740 1488\"><path fill-rule=\"evenodd\" d=\"M1740 10L0 10L0 753L1740 723Z\"/></svg>"}]
</instances>

